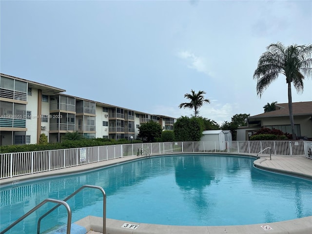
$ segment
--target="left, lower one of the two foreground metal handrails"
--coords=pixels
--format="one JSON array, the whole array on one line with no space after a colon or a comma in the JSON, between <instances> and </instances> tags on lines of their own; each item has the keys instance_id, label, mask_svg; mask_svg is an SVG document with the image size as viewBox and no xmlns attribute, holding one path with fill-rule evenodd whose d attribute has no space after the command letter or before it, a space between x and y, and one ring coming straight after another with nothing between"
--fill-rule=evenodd
<instances>
[{"instance_id":1,"label":"left, lower one of the two foreground metal handrails","mask_svg":"<svg viewBox=\"0 0 312 234\"><path fill-rule=\"evenodd\" d=\"M61 201L57 199L52 199L52 198L47 198L41 203L39 203L37 206L35 206L33 209L31 209L29 212L27 212L25 215L21 216L18 220L16 220L14 223L12 223L10 226L8 226L6 229L0 232L0 234L6 233L8 230L13 228L15 225L17 225L21 220L26 218L28 215L32 214L34 211L39 209L41 206L43 206L47 202L53 202L53 203L59 203L58 207L60 205L64 205L65 208L67 209L68 217L67 217L67 229L66 229L66 234L70 234L70 229L71 229L71 223L72 223L72 212L70 210L69 205L67 204L66 201ZM37 230L38 231L38 230Z\"/></svg>"}]
</instances>

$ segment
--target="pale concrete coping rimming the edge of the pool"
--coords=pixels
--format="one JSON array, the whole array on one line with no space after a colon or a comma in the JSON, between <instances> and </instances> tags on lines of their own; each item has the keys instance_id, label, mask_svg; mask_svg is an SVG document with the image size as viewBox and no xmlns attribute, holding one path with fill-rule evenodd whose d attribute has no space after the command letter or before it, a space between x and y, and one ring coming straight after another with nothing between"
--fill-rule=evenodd
<instances>
[{"instance_id":1,"label":"pale concrete coping rimming the edge of the pool","mask_svg":"<svg viewBox=\"0 0 312 234\"><path fill-rule=\"evenodd\" d=\"M185 154L185 153L184 153ZM191 154L191 153L188 153ZM216 153L201 153L201 154L216 154ZM220 155L220 153L218 153ZM155 155L155 156L168 156L168 155L183 155L178 154L166 154L166 155ZM287 174L291 176L299 176L303 178L312 179L311 175L303 174L300 172L293 172L280 168L272 168L261 165L262 162L267 160L265 157L257 157L255 155L245 154L231 154L222 153L222 155L235 155L235 156L247 156L258 158L254 160L254 166L259 169ZM154 156L151 156L154 157ZM287 158L286 156L285 158ZM14 181L27 181L38 178L47 178L51 176L61 176L65 174L77 174L84 173L85 171L98 170L102 167L114 166L134 160L141 159L142 157L130 156L123 158L110 159L107 161L84 164L77 167L64 168L49 172L42 172L26 176L17 176L12 178L6 178L0 180L0 187L6 187L12 185ZM74 169L75 168L75 169ZM131 223L139 225L137 229L123 228L125 223ZM102 232L103 218L97 216L86 216L83 219L75 222L80 226L84 226L89 231ZM263 226L263 227L262 227ZM266 229L267 228L267 229ZM109 219L106 218L106 233L107 234L307 234L312 233L312 216L292 219L287 221L263 223L263 224L252 224L252 225L237 225L237 226L174 226L174 225L157 225L148 223L136 223L128 222L123 220Z\"/></svg>"}]
</instances>

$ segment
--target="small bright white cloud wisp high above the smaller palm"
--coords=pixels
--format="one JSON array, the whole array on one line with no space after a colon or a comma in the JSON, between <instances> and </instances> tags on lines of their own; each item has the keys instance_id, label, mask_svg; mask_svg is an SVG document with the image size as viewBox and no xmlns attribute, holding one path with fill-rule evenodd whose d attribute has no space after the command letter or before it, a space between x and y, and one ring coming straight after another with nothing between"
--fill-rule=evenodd
<instances>
[{"instance_id":1,"label":"small bright white cloud wisp high above the smaller palm","mask_svg":"<svg viewBox=\"0 0 312 234\"><path fill-rule=\"evenodd\" d=\"M180 59L184 59L188 65L188 68L195 69L197 72L205 73L211 76L211 72L208 70L206 59L199 57L190 51L181 51L178 53Z\"/></svg>"}]
</instances>

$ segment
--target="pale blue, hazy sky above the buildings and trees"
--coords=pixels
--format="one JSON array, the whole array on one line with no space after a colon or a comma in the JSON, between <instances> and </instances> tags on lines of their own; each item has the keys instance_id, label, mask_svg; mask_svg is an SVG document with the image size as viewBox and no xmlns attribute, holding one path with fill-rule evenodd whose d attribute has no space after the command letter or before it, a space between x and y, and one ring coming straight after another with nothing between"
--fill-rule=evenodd
<instances>
[{"instance_id":1,"label":"pale blue, hazy sky above the buildings and trees","mask_svg":"<svg viewBox=\"0 0 312 234\"><path fill-rule=\"evenodd\" d=\"M312 43L311 0L0 0L0 21L1 73L175 118L201 90L199 116L219 124L287 103L282 75L257 96L258 59L271 43ZM312 78L292 101L312 101Z\"/></svg>"}]
</instances>

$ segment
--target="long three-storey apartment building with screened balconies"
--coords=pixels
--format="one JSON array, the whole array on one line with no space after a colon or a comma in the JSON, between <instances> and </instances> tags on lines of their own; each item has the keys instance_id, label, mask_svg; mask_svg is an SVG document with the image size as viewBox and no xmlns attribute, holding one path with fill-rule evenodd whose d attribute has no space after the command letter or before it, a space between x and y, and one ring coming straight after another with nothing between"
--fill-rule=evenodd
<instances>
[{"instance_id":1,"label":"long three-storey apartment building with screened balconies","mask_svg":"<svg viewBox=\"0 0 312 234\"><path fill-rule=\"evenodd\" d=\"M173 130L173 117L78 98L64 94L64 89L0 75L0 145L36 144L42 133L49 142L59 142L74 131L86 138L136 138L138 127L148 121Z\"/></svg>"}]
</instances>

